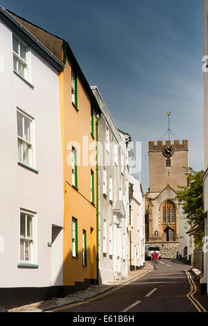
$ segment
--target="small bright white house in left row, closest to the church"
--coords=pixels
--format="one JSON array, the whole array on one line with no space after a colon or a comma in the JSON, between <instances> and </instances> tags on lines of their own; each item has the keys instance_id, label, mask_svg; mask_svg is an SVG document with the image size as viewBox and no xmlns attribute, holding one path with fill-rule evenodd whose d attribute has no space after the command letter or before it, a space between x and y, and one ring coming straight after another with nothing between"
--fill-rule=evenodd
<instances>
[{"instance_id":1,"label":"small bright white house in left row, closest to the church","mask_svg":"<svg viewBox=\"0 0 208 326\"><path fill-rule=\"evenodd\" d=\"M130 201L130 269L144 267L145 261L145 221L144 192L141 181L130 175L132 200Z\"/></svg>"}]
</instances>

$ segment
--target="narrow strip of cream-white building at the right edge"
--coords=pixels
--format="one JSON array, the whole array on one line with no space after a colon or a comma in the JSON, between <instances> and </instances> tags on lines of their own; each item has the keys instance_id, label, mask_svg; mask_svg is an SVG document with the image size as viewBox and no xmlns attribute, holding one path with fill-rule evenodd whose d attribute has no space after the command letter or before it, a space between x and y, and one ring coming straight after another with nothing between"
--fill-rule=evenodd
<instances>
[{"instance_id":1,"label":"narrow strip of cream-white building at the right edge","mask_svg":"<svg viewBox=\"0 0 208 326\"><path fill-rule=\"evenodd\" d=\"M208 1L202 0L202 28L203 28L203 60L204 60L204 146L205 146L205 175L203 176L205 237L208 237ZM207 249L207 241L205 242ZM208 250L204 250L204 278L200 280L202 291L208 293Z\"/></svg>"}]
</instances>

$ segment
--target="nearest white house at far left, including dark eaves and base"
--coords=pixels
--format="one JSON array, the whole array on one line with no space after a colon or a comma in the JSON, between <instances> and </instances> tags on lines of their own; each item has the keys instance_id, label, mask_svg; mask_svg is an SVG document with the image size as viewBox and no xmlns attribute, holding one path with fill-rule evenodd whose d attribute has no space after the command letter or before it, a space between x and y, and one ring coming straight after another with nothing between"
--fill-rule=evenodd
<instances>
[{"instance_id":1,"label":"nearest white house at far left, including dark eaves and base","mask_svg":"<svg viewBox=\"0 0 208 326\"><path fill-rule=\"evenodd\" d=\"M0 40L0 304L11 307L62 286L64 65L1 6Z\"/></svg>"}]
</instances>

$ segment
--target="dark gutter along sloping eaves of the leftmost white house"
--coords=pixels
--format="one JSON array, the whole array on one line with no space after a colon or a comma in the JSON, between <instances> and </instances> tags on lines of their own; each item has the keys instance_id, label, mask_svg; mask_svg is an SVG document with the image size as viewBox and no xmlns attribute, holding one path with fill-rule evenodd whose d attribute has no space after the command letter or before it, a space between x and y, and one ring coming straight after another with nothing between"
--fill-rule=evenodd
<instances>
[{"instance_id":1,"label":"dark gutter along sloping eaves of the leftmost white house","mask_svg":"<svg viewBox=\"0 0 208 326\"><path fill-rule=\"evenodd\" d=\"M0 12L6 16L10 22L12 22L13 24L15 24L22 32L24 32L24 34L26 34L31 40L33 40L33 42L35 44L37 44L38 46L40 46L40 48L47 54L49 55L49 57L53 58L53 60L55 60L55 62L58 63L58 65L62 68L65 67L65 65L63 64L63 62L61 60L59 60L48 48L46 48L46 46L44 46L44 44L42 44L42 42L40 42L40 40L37 39L37 37L35 37L31 32L28 31L27 28L25 28L23 25L21 25L21 23L15 19L15 17L13 17L3 6L0 5Z\"/></svg>"}]
</instances>

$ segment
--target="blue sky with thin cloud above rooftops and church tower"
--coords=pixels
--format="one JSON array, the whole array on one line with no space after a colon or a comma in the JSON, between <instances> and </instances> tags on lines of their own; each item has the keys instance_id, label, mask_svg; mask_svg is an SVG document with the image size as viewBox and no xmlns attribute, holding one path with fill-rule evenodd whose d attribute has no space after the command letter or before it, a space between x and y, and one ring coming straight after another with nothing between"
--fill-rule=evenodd
<instances>
[{"instance_id":1,"label":"blue sky with thin cloud above rooftops and church tower","mask_svg":"<svg viewBox=\"0 0 208 326\"><path fill-rule=\"evenodd\" d=\"M0 0L5 8L67 40L89 85L97 85L117 128L142 142L168 128L189 140L189 166L204 169L200 0Z\"/></svg>"}]
</instances>

